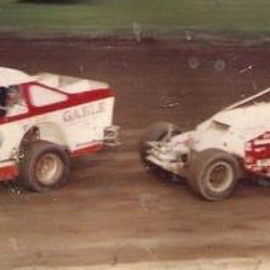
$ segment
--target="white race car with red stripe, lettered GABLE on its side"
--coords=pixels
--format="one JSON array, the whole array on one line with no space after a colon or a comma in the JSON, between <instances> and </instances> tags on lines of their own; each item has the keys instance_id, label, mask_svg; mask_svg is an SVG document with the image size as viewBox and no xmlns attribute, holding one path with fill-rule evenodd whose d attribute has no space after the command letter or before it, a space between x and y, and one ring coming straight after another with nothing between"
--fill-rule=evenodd
<instances>
[{"instance_id":1,"label":"white race car with red stripe, lettered GABLE on its side","mask_svg":"<svg viewBox=\"0 0 270 270\"><path fill-rule=\"evenodd\" d=\"M44 191L64 184L70 157L117 144L108 84L0 68L0 180Z\"/></svg>"}]
</instances>

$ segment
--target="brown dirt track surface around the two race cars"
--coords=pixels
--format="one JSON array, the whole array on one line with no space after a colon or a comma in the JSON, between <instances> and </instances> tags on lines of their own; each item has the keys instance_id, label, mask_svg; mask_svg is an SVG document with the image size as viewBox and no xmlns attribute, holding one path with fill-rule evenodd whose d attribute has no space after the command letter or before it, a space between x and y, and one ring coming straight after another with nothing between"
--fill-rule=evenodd
<instances>
[{"instance_id":1,"label":"brown dirt track surface around the two race cars","mask_svg":"<svg viewBox=\"0 0 270 270\"><path fill-rule=\"evenodd\" d=\"M270 86L269 59L266 46L2 39L2 66L110 82L122 146L74 160L59 191L1 186L0 269L269 256L269 188L240 184L229 200L208 203L148 174L137 151L155 120L191 129Z\"/></svg>"}]
</instances>

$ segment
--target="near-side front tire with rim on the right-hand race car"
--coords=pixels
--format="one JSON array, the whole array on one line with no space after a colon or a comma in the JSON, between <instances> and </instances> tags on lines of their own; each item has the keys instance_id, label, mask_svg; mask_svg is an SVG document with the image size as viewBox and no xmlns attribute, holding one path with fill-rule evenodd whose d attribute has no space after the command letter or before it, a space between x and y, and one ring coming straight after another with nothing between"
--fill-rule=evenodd
<instances>
[{"instance_id":1,"label":"near-side front tire with rim on the right-hand race car","mask_svg":"<svg viewBox=\"0 0 270 270\"><path fill-rule=\"evenodd\" d=\"M242 175L238 160L219 149L208 149L191 158L188 184L206 200L228 198Z\"/></svg>"}]
</instances>

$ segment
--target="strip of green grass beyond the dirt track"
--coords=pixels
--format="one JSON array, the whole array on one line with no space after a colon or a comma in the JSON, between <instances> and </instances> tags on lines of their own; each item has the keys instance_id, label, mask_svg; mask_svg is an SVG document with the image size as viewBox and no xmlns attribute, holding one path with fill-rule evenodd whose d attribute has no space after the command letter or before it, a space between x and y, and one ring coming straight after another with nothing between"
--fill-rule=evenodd
<instances>
[{"instance_id":1,"label":"strip of green grass beyond the dirt track","mask_svg":"<svg viewBox=\"0 0 270 270\"><path fill-rule=\"evenodd\" d=\"M0 0L0 31L23 34L131 35L269 34L269 0L77 0L75 4L23 4Z\"/></svg>"}]
</instances>

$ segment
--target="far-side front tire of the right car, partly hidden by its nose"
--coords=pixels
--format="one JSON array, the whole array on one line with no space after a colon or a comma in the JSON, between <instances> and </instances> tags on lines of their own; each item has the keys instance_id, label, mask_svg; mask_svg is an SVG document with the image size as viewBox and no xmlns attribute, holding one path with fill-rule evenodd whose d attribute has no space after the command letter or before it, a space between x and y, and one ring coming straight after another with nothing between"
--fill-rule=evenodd
<instances>
[{"instance_id":1,"label":"far-side front tire of the right car, partly hidden by its nose","mask_svg":"<svg viewBox=\"0 0 270 270\"><path fill-rule=\"evenodd\" d=\"M140 156L141 162L143 165L148 167L149 169L155 167L150 164L146 160L146 156L150 146L148 146L148 141L165 141L168 133L171 132L171 135L181 134L181 131L178 127L174 126L169 122L155 122L150 124L150 126L144 131L142 136L139 148L140 148Z\"/></svg>"}]
</instances>

